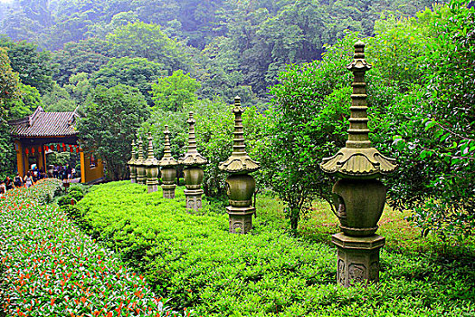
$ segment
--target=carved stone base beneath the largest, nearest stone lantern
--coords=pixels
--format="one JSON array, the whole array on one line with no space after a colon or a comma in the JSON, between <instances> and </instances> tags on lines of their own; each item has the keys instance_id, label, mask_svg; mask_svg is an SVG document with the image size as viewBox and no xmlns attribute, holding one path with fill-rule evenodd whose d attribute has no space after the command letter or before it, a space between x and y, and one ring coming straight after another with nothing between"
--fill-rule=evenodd
<instances>
[{"instance_id":1,"label":"carved stone base beneath the largest, nearest stone lantern","mask_svg":"<svg viewBox=\"0 0 475 317\"><path fill-rule=\"evenodd\" d=\"M331 236L337 245L337 283L349 287L355 283L379 281L379 250L385 245L381 235L348 236L338 233Z\"/></svg>"}]
</instances>

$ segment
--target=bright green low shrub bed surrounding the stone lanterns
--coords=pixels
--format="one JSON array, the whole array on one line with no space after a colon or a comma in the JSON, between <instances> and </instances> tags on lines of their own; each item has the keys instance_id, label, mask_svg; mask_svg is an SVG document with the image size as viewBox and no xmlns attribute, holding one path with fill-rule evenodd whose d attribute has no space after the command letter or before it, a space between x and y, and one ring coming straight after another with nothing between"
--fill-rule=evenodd
<instances>
[{"instance_id":1,"label":"bright green low shrub bed surrounding the stone lanterns","mask_svg":"<svg viewBox=\"0 0 475 317\"><path fill-rule=\"evenodd\" d=\"M306 238L310 235L290 237L282 229L284 220L273 215L278 208L269 210L271 202L258 203L251 235L229 235L219 204L204 201L200 215L188 214L183 187L176 189L176 199L162 198L161 190L146 192L127 181L93 187L78 204L76 220L177 307L192 307L203 316L475 313L471 262L444 262L414 254L417 249L396 252L401 244L399 250L383 249L380 283L345 289L336 284L335 248ZM273 198L261 201L266 199ZM309 215L304 228L311 221L316 220ZM393 236L398 231L394 225L385 230ZM400 236L406 235L413 233Z\"/></svg>"}]
</instances>

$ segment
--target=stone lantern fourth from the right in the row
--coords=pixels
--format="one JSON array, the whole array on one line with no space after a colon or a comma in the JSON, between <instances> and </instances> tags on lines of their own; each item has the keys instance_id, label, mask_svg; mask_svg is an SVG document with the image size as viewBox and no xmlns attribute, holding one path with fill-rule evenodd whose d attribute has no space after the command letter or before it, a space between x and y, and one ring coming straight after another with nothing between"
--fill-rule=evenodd
<instances>
[{"instance_id":1,"label":"stone lantern fourth from the right in the row","mask_svg":"<svg viewBox=\"0 0 475 317\"><path fill-rule=\"evenodd\" d=\"M165 126L165 152L163 158L160 159L158 165L161 167L162 173L162 189L164 198L175 198L175 178L176 178L176 165L178 162L172 157L172 152L170 151L170 139L168 135L170 131L168 126Z\"/></svg>"}]
</instances>

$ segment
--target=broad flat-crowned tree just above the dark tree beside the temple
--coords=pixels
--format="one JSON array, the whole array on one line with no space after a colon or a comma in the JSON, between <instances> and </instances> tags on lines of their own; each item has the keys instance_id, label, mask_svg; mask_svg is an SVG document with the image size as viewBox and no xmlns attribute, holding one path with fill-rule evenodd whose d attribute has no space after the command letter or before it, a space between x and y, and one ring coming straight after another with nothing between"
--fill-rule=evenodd
<instances>
[{"instance_id":1,"label":"broad flat-crowned tree just above the dark tree beside the temple","mask_svg":"<svg viewBox=\"0 0 475 317\"><path fill-rule=\"evenodd\" d=\"M163 64L140 57L122 57L110 59L98 72L93 73L91 80L96 85L106 87L116 86L119 83L137 87L151 106L152 82L159 82L163 75L166 75Z\"/></svg>"}]
</instances>

